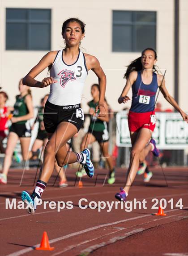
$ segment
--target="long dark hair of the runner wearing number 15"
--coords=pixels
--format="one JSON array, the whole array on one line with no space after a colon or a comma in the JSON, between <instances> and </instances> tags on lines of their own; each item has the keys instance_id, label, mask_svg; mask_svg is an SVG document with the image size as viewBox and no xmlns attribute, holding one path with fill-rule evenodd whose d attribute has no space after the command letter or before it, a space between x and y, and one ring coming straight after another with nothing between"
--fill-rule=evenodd
<instances>
[{"instance_id":1,"label":"long dark hair of the runner wearing number 15","mask_svg":"<svg viewBox=\"0 0 188 256\"><path fill-rule=\"evenodd\" d=\"M153 49L153 48L146 48L144 49L142 52L141 52L141 57L143 56L143 54L145 53L146 50L150 50L150 51L153 51L154 52L154 58L157 59L157 53L156 51ZM129 74L132 72L132 71L141 71L142 70L142 64L141 64L141 57L139 58L136 58L135 60L133 60L128 66L127 66L127 71L126 73L124 74L124 78L128 78ZM158 72L156 70L156 66L154 65L153 67L154 71Z\"/></svg>"}]
</instances>

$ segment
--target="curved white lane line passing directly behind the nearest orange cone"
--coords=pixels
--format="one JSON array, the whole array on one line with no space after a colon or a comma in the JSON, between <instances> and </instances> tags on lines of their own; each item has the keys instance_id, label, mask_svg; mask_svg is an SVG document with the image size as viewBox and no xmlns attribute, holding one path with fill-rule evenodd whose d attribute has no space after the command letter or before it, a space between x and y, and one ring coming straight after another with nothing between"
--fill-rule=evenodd
<instances>
[{"instance_id":1,"label":"curved white lane line passing directly behind the nearest orange cone","mask_svg":"<svg viewBox=\"0 0 188 256\"><path fill-rule=\"evenodd\" d=\"M184 207L184 209L187 209L187 208L188 207ZM172 212L172 211L179 211L179 209L169 210L169 211L166 211L166 212ZM71 234L68 234L68 235L65 235L65 236L62 236L62 237L59 237L59 238L51 239L49 241L49 243L50 244L56 243L56 242L59 242L61 240L64 240L64 239L67 239L67 238L70 238L70 237L74 237L74 236L77 236L77 235L80 235L80 234L87 233L89 231L93 231L95 229L100 229L100 228L103 228L103 227L108 227L108 226L111 226L111 225L116 225L116 224L119 224L119 223L127 222L129 220L137 220L137 219L141 219L141 218L145 218L145 217L148 217L148 214L133 217L133 218L129 218L129 219L125 219L125 220L118 220L118 221L111 222L111 223L106 223L106 224L103 224L103 225L97 225L97 226L94 226L94 227L91 227L91 228L88 228L88 229L83 229L83 230L80 230L80 231L77 231L77 232L73 232ZM33 250L33 247L38 247L38 246L40 246L40 244L36 244L32 247L22 249L22 250L17 251L17 252L13 252L13 253L9 254L8 256L20 256L20 255L23 255L27 252L31 252Z\"/></svg>"}]
</instances>

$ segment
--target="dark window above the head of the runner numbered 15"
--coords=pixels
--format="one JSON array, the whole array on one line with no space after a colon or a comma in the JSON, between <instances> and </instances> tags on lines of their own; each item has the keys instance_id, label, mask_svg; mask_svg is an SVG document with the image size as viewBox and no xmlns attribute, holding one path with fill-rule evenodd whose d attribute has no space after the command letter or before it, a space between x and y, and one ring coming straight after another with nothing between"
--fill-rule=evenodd
<instances>
[{"instance_id":1,"label":"dark window above the head of the runner numbered 15","mask_svg":"<svg viewBox=\"0 0 188 256\"><path fill-rule=\"evenodd\" d=\"M156 49L156 12L113 11L112 51Z\"/></svg>"}]
</instances>

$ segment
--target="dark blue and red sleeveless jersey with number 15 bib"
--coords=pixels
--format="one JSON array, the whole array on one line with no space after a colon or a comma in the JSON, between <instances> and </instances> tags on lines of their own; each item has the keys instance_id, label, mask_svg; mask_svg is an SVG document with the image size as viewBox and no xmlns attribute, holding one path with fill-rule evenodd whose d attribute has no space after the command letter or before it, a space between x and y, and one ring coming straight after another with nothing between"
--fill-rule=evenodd
<instances>
[{"instance_id":1,"label":"dark blue and red sleeveless jersey with number 15 bib","mask_svg":"<svg viewBox=\"0 0 188 256\"><path fill-rule=\"evenodd\" d=\"M141 80L141 71L139 71L137 80L132 85L132 104L130 111L137 113L154 111L157 89L157 74L153 72L150 85L145 85Z\"/></svg>"}]
</instances>

